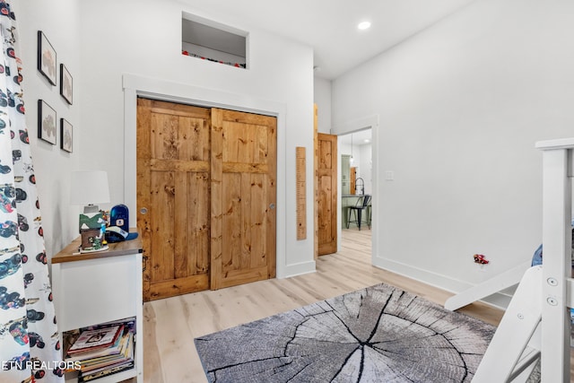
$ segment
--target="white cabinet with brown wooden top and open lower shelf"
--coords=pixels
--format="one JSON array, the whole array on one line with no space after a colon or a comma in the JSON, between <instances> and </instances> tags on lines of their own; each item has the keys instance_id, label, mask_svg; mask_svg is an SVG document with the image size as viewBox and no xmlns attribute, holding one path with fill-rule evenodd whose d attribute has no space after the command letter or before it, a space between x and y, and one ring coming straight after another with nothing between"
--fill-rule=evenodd
<instances>
[{"instance_id":1,"label":"white cabinet with brown wooden top and open lower shelf","mask_svg":"<svg viewBox=\"0 0 574 383\"><path fill-rule=\"evenodd\" d=\"M78 254L81 239L52 258L52 292L60 345L65 331L135 318L135 367L97 383L134 378L143 382L143 298L141 238L109 244L109 249ZM75 381L74 373L66 381Z\"/></svg>"}]
</instances>

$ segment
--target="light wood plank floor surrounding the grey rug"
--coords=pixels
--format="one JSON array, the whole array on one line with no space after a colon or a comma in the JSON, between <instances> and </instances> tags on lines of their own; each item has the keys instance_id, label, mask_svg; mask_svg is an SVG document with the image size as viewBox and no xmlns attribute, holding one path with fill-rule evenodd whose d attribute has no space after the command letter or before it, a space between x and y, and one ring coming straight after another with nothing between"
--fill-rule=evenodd
<instances>
[{"instance_id":1,"label":"light wood plank floor surrounding the grey rug","mask_svg":"<svg viewBox=\"0 0 574 383\"><path fill-rule=\"evenodd\" d=\"M317 260L317 273L196 292L143 305L145 382L206 382L194 338L377 283L440 305L448 292L370 265L370 230L343 231L343 249ZM461 310L497 325L503 312L482 303Z\"/></svg>"}]
</instances>

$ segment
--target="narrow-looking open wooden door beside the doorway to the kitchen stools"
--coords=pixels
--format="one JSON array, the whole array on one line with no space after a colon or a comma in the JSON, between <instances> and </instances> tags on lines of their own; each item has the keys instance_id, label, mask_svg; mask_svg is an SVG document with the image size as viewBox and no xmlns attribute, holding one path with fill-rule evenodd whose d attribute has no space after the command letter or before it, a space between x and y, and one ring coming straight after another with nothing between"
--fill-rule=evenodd
<instances>
[{"instance_id":1,"label":"narrow-looking open wooden door beside the doorway to the kitchen stools","mask_svg":"<svg viewBox=\"0 0 574 383\"><path fill-rule=\"evenodd\" d=\"M337 251L337 136L317 134L318 254Z\"/></svg>"}]
</instances>

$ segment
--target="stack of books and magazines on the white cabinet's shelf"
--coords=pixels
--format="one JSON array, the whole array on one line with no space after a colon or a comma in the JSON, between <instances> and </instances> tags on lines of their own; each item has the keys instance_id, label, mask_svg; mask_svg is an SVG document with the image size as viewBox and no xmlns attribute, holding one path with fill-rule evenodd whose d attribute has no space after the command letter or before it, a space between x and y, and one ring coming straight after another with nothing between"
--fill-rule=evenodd
<instances>
[{"instance_id":1,"label":"stack of books and magazines on the white cabinet's shelf","mask_svg":"<svg viewBox=\"0 0 574 383\"><path fill-rule=\"evenodd\" d=\"M83 328L65 361L80 363L79 382L134 368L135 319Z\"/></svg>"}]
</instances>

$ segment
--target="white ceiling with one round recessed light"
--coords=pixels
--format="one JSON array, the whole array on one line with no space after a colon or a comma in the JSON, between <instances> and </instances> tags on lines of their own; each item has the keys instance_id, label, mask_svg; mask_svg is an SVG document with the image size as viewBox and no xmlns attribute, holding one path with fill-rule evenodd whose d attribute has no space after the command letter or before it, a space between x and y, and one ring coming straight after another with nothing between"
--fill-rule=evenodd
<instances>
[{"instance_id":1,"label":"white ceiling with one round recessed light","mask_svg":"<svg viewBox=\"0 0 574 383\"><path fill-rule=\"evenodd\" d=\"M474 0L183 0L314 49L317 77L334 79ZM357 24L370 21L369 30Z\"/></svg>"}]
</instances>

